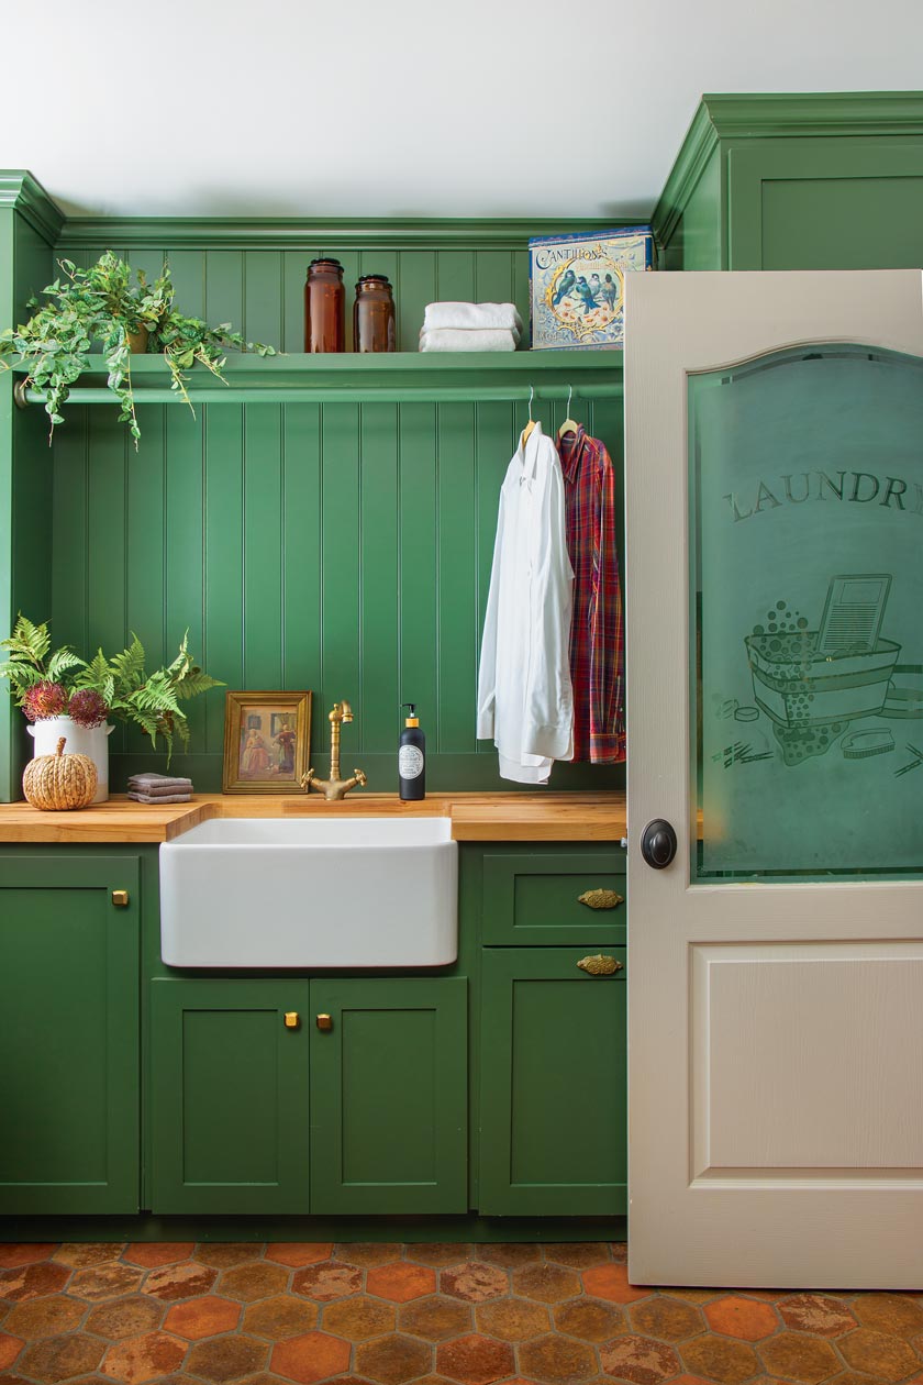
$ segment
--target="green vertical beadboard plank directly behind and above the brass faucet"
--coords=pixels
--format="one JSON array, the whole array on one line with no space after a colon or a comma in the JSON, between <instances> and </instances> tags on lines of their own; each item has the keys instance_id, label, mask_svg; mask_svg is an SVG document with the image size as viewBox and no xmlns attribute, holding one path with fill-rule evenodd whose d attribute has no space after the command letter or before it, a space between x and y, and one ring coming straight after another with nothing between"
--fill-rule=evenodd
<instances>
[{"instance_id":1,"label":"green vertical beadboard plank directly behind and above the brass faucet","mask_svg":"<svg viewBox=\"0 0 923 1385\"><path fill-rule=\"evenodd\" d=\"M361 503L358 468L358 404L329 404L324 409L321 474L324 486L324 535L321 550L324 683L314 716L311 740L316 751L329 748L327 712L346 698L357 722L360 655L360 565ZM345 731L343 767L358 744L358 726ZM349 766L351 769L351 766Z\"/></svg>"}]
</instances>

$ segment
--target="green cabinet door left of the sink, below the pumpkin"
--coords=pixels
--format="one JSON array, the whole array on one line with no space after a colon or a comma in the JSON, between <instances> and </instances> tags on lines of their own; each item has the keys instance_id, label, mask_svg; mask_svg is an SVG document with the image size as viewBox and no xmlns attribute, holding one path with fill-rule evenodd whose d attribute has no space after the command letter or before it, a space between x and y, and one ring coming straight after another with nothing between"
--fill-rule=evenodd
<instances>
[{"instance_id":1,"label":"green cabinet door left of the sink, below the pumpkin","mask_svg":"<svg viewBox=\"0 0 923 1385\"><path fill-rule=\"evenodd\" d=\"M0 857L0 1212L138 1210L138 875Z\"/></svg>"}]
</instances>

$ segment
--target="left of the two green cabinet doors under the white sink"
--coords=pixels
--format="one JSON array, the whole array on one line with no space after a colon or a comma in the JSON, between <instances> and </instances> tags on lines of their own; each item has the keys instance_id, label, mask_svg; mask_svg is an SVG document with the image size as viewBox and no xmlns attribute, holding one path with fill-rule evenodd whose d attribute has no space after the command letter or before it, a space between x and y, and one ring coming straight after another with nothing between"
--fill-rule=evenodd
<instances>
[{"instance_id":1,"label":"left of the two green cabinet doors under the white sink","mask_svg":"<svg viewBox=\"0 0 923 1385\"><path fill-rule=\"evenodd\" d=\"M307 999L299 978L151 982L152 1212L309 1210Z\"/></svg>"}]
</instances>

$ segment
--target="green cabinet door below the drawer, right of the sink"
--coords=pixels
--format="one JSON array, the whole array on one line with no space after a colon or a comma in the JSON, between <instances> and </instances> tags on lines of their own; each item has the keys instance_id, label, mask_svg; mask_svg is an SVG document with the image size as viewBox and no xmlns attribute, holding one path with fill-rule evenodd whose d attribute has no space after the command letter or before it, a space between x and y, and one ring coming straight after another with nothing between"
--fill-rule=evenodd
<instances>
[{"instance_id":1,"label":"green cabinet door below the drawer, right of the sink","mask_svg":"<svg viewBox=\"0 0 923 1385\"><path fill-rule=\"evenodd\" d=\"M480 1195L484 1216L627 1210L625 949L484 949Z\"/></svg>"}]
</instances>

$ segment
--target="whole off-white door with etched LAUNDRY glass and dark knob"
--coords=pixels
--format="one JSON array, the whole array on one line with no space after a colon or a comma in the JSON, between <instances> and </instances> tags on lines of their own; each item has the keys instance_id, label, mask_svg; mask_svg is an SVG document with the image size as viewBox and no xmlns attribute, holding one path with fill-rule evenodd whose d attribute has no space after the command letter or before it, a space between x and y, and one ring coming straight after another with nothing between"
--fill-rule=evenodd
<instances>
[{"instance_id":1,"label":"whole off-white door with etched LAUNDRY glass and dark knob","mask_svg":"<svg viewBox=\"0 0 923 1385\"><path fill-rule=\"evenodd\" d=\"M922 276L625 301L630 1277L919 1289Z\"/></svg>"}]
</instances>

